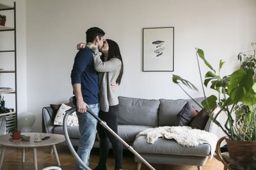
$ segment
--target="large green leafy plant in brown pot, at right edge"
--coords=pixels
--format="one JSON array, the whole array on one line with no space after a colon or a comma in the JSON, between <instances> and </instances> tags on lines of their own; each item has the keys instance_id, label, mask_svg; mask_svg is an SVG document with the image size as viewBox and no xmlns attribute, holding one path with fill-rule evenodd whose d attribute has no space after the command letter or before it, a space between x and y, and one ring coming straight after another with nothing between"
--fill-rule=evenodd
<instances>
[{"instance_id":1,"label":"large green leafy plant in brown pot, at right edge","mask_svg":"<svg viewBox=\"0 0 256 170\"><path fill-rule=\"evenodd\" d=\"M236 169L256 169L256 68L255 45L252 43L253 50L249 52L241 52L237 56L239 60L244 58L240 69L234 73L220 76L220 70L223 66L223 60L220 60L218 73L213 69L211 64L207 62L204 51L196 48L196 57L204 92L204 101L202 106L208 110L209 117L217 124L227 135L228 152L231 164ZM204 63L211 71L205 74L204 82L200 71L198 58L204 60ZM172 80L179 85L185 85L193 90L197 90L195 85L188 80L184 80L180 76L173 74ZM209 85L211 83L211 85ZM205 96L205 89L210 86L218 95ZM184 92L186 92L184 90ZM188 94L186 92L186 94ZM189 96L189 94L188 94ZM189 96L191 97L191 96ZM193 99L191 97L191 99ZM196 102L196 101L195 101ZM197 103L200 105L199 103ZM212 115L211 110L220 108L220 111ZM216 119L220 114L225 113L227 120L225 125Z\"/></svg>"}]
</instances>

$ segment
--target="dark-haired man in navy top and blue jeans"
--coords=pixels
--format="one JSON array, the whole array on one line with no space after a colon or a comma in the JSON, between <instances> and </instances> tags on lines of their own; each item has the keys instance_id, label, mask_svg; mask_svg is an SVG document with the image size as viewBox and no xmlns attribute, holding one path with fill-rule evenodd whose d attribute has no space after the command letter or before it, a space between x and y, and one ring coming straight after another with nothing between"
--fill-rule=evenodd
<instances>
[{"instance_id":1,"label":"dark-haired man in navy top and blue jeans","mask_svg":"<svg viewBox=\"0 0 256 170\"><path fill-rule=\"evenodd\" d=\"M93 43L100 51L103 46L104 35L105 32L102 29L92 27L86 31L86 43ZM90 108L95 115L99 114L99 83L97 71L93 67L93 54L90 48L86 47L77 52L71 80L75 94L73 103L77 106L77 118L81 133L77 154L84 164L89 166L97 120L90 113L86 113L86 108ZM83 169L83 167L76 162L76 170L78 169Z\"/></svg>"}]
</instances>

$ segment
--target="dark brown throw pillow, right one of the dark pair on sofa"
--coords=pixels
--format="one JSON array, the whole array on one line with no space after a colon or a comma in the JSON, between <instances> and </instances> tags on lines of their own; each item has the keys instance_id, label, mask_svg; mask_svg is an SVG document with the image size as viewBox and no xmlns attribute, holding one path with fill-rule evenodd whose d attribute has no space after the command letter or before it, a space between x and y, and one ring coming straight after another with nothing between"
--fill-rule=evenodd
<instances>
[{"instance_id":1,"label":"dark brown throw pillow, right one of the dark pair on sofa","mask_svg":"<svg viewBox=\"0 0 256 170\"><path fill-rule=\"evenodd\" d=\"M207 113L207 110L202 109L199 111L199 113L196 115L196 117L193 118L192 122L189 124L190 127L193 129L201 129L204 130L204 127L209 119L209 115Z\"/></svg>"}]
</instances>

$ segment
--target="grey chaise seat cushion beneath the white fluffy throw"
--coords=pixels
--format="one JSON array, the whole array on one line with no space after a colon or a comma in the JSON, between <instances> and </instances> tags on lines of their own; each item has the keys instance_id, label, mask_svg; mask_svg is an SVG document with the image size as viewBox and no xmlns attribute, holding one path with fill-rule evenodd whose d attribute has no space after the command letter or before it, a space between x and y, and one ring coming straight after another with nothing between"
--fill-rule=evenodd
<instances>
[{"instance_id":1,"label":"grey chaise seat cushion beneath the white fluffy throw","mask_svg":"<svg viewBox=\"0 0 256 170\"><path fill-rule=\"evenodd\" d=\"M154 144L147 143L147 136L139 136L132 144L138 153L158 153L166 155L208 156L211 153L209 144L200 144L196 147L184 147L173 139L158 138Z\"/></svg>"}]
</instances>

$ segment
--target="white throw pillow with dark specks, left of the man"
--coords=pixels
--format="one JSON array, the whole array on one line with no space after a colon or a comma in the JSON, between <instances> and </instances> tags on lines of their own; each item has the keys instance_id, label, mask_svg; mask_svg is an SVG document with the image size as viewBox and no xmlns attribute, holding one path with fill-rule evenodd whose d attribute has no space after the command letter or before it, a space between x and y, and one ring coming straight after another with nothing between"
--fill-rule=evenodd
<instances>
[{"instance_id":1,"label":"white throw pillow with dark specks, left of the man","mask_svg":"<svg viewBox=\"0 0 256 170\"><path fill-rule=\"evenodd\" d=\"M71 107L66 104L61 104L59 110L56 113L54 118L54 125L63 125L63 118L66 114L66 110L69 110ZM76 115L76 111L72 113L72 115L68 116L67 126L78 126L78 119Z\"/></svg>"}]
</instances>

